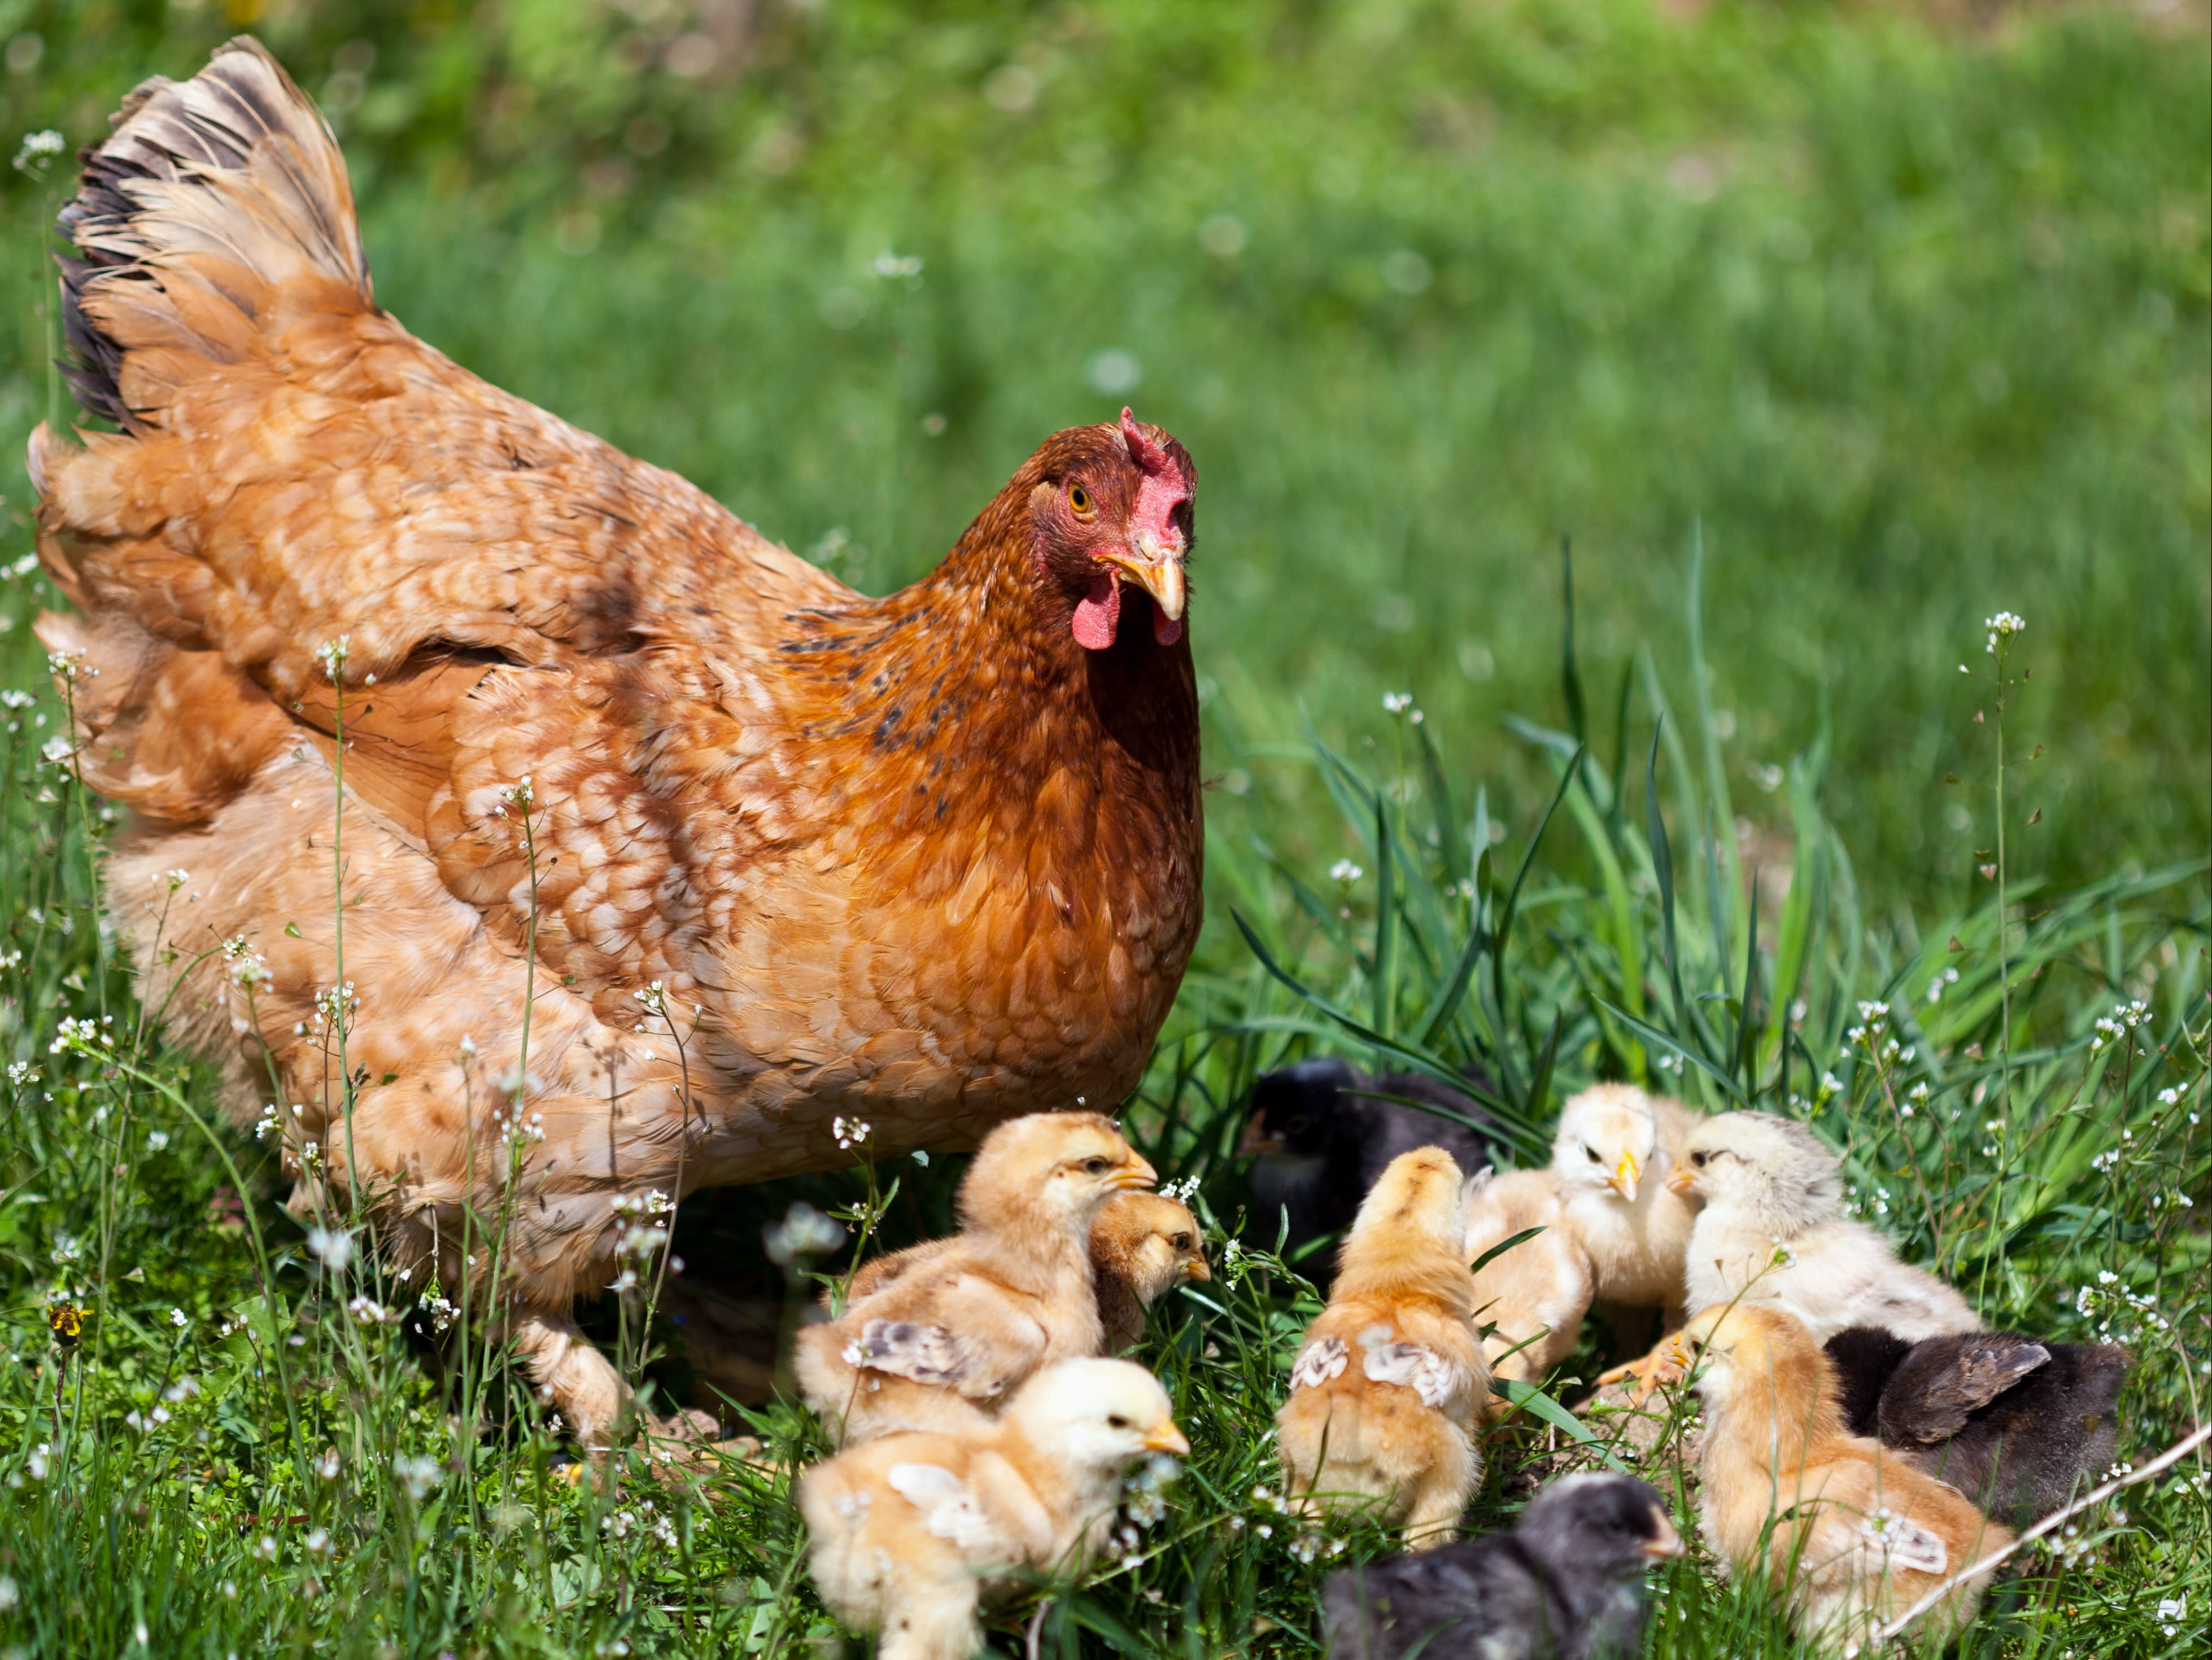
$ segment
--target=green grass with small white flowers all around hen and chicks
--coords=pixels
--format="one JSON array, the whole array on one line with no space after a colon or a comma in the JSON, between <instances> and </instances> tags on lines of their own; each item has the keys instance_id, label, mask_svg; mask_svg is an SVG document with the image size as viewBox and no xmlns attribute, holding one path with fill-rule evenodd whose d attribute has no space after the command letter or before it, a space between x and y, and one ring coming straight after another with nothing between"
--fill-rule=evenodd
<instances>
[{"instance_id":1,"label":"green grass with small white flowers all around hen and chicks","mask_svg":"<svg viewBox=\"0 0 2212 1660\"><path fill-rule=\"evenodd\" d=\"M1595 1076L1803 1116L1993 1322L2137 1348L2121 1457L2201 1419L2199 33L856 4L770 13L717 84L624 69L677 9L422 18L268 33L343 113L380 296L493 380L869 588L1102 411L1108 351L1199 458L1212 915L1128 1114L1217 1229L1219 1282L1146 1344L1197 1450L1133 1561L1040 1587L1002 1649L1042 1609L1042 1653L1314 1653L1318 1578L1385 1547L1254 1492L1314 1306L1263 1240L1225 1260L1234 1103L1305 1048L1482 1059L1533 1156ZM0 7L27 31L9 122L77 141L226 24ZM29 290L51 183L11 190ZM872 274L885 248L920 272ZM51 385L18 316L20 435ZM482 1339L352 1317L420 1289L319 1262L265 1145L206 1118L93 904L111 818L40 754L46 599L20 572L0 610L0 1651L810 1653L776 1481L571 1485ZM2031 623L2002 659L2000 608ZM686 1205L677 1249L783 1284L757 1229L787 1202L896 1244L958 1163ZM641 1315L606 1317L633 1364L672 1339ZM1493 1459L1471 1523L1577 1428ZM2031 1556L1964 1647L2201 1647L2203 1470ZM1657 1656L1792 1651L1701 1556L1659 1591Z\"/></svg>"}]
</instances>

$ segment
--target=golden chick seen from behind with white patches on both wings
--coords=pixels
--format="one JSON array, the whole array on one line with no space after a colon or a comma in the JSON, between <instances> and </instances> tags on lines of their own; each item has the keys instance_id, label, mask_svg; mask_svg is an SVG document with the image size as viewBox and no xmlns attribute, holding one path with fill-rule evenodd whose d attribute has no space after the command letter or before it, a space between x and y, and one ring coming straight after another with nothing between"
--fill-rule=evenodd
<instances>
[{"instance_id":1,"label":"golden chick seen from behind with white patches on both wings","mask_svg":"<svg viewBox=\"0 0 2212 1660\"><path fill-rule=\"evenodd\" d=\"M1352 1222L1274 1417L1292 1496L1323 1510L1380 1501L1407 1549L1444 1543L1482 1477L1473 1428L1491 1368L1464 1247L1451 1154L1398 1154Z\"/></svg>"}]
</instances>

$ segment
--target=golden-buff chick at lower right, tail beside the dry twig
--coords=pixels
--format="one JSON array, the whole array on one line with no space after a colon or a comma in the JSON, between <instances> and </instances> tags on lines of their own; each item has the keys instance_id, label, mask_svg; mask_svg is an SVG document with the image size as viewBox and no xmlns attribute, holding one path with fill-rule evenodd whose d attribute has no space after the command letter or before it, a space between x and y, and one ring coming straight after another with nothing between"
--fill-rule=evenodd
<instances>
[{"instance_id":1,"label":"golden-buff chick at lower right, tail beside the dry twig","mask_svg":"<svg viewBox=\"0 0 2212 1660\"><path fill-rule=\"evenodd\" d=\"M2011 1543L1955 1488L1845 1432L1827 1355L1794 1315L1705 1309L1674 1344L1677 1366L1699 1366L1705 1401L1705 1541L1787 1596L1803 1640L1849 1651L1874 1622ZM1971 1620L1986 1578L1947 1591L1922 1638Z\"/></svg>"}]
</instances>

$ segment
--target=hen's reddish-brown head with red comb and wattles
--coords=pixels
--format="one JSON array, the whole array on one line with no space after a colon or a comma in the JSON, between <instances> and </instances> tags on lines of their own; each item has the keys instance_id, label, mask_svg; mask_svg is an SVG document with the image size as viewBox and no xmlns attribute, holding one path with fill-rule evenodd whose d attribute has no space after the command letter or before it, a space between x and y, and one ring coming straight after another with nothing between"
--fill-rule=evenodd
<instances>
[{"instance_id":1,"label":"hen's reddish-brown head with red comb and wattles","mask_svg":"<svg viewBox=\"0 0 2212 1660\"><path fill-rule=\"evenodd\" d=\"M1124 588L1150 612L1152 639L1183 637L1190 595L1190 513L1199 475L1159 427L1126 409L1121 424L1071 427L1037 451L1029 530L1037 575L1066 606L1068 630L1093 652L1115 643ZM1055 606L1057 610L1057 606Z\"/></svg>"}]
</instances>

